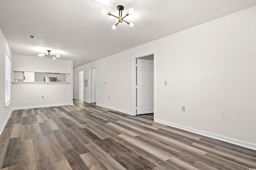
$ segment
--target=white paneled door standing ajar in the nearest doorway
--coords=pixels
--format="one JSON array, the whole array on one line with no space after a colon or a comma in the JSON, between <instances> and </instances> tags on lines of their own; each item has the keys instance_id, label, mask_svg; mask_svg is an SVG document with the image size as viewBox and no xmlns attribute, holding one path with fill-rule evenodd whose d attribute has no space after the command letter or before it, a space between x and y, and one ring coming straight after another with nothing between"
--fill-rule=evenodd
<instances>
[{"instance_id":1,"label":"white paneled door standing ajar in the nearest doorway","mask_svg":"<svg viewBox=\"0 0 256 170\"><path fill-rule=\"evenodd\" d=\"M154 113L154 61L137 59L137 115Z\"/></svg>"}]
</instances>

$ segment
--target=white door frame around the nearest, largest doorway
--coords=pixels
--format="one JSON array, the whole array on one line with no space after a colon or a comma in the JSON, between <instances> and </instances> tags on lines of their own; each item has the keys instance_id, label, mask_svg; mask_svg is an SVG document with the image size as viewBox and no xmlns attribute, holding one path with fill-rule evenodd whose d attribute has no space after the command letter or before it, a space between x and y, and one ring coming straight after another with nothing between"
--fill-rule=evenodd
<instances>
[{"instance_id":1,"label":"white door frame around the nearest, largest doorway","mask_svg":"<svg viewBox=\"0 0 256 170\"><path fill-rule=\"evenodd\" d=\"M137 115L136 106L137 106L137 90L136 90L136 82L137 82L137 69L136 69L136 59L141 57L146 57L148 55L154 55L154 121L156 115L156 53L146 53L144 55L139 55L137 57L133 57L132 61L132 115Z\"/></svg>"}]
</instances>

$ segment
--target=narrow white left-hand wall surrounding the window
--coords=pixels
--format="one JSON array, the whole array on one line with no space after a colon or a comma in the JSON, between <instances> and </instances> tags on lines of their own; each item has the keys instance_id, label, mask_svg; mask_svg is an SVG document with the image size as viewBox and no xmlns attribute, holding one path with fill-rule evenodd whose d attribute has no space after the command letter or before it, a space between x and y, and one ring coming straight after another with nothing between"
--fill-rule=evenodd
<instances>
[{"instance_id":1,"label":"narrow white left-hand wall surrounding the window","mask_svg":"<svg viewBox=\"0 0 256 170\"><path fill-rule=\"evenodd\" d=\"M5 54L12 61L12 52L0 28L0 133L4 128L4 123L6 123L8 115L12 111L12 103L5 107Z\"/></svg>"}]
</instances>

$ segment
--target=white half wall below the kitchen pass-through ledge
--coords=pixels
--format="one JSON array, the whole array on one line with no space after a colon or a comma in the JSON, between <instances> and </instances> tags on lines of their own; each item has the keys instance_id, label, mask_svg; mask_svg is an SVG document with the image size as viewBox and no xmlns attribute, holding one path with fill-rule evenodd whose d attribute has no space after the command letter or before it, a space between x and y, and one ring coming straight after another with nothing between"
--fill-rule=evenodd
<instances>
[{"instance_id":1,"label":"white half wall below the kitchen pass-through ledge","mask_svg":"<svg viewBox=\"0 0 256 170\"><path fill-rule=\"evenodd\" d=\"M70 82L13 82L12 89L14 109L70 105Z\"/></svg>"}]
</instances>

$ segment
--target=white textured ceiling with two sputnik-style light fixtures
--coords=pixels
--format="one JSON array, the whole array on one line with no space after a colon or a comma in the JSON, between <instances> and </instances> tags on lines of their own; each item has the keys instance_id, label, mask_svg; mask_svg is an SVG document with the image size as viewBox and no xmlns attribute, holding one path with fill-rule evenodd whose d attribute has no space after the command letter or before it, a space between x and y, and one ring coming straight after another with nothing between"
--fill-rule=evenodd
<instances>
[{"instance_id":1,"label":"white textured ceiling with two sputnik-style light fixtures","mask_svg":"<svg viewBox=\"0 0 256 170\"><path fill-rule=\"evenodd\" d=\"M134 8L134 15L112 25ZM90 63L246 8L256 0L0 0L0 28L13 54L59 54L74 65ZM36 39L29 39L29 35ZM74 67L76 67L74 66Z\"/></svg>"}]
</instances>

